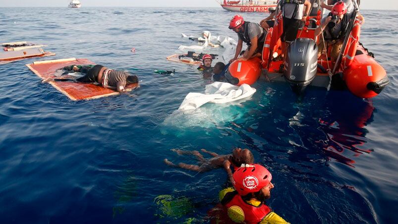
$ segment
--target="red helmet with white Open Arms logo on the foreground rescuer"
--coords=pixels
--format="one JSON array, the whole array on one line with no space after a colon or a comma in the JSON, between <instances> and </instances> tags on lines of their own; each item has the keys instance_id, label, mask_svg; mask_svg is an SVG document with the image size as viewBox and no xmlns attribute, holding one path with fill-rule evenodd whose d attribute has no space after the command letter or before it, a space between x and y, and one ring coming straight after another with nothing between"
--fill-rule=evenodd
<instances>
[{"instance_id":1,"label":"red helmet with white Open Arms logo on the foreground rescuer","mask_svg":"<svg viewBox=\"0 0 398 224\"><path fill-rule=\"evenodd\" d=\"M271 183L272 175L267 168L259 164L242 164L233 173L233 186L239 195L254 193Z\"/></svg>"}]
</instances>

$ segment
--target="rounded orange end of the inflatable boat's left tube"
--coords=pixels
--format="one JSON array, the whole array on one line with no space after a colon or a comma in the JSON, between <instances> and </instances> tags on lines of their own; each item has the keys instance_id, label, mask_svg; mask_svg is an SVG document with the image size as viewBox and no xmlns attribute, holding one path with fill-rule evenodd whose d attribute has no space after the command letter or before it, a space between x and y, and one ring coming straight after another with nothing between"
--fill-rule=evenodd
<instances>
[{"instance_id":1,"label":"rounded orange end of the inflatable boat's left tube","mask_svg":"<svg viewBox=\"0 0 398 224\"><path fill-rule=\"evenodd\" d=\"M227 80L233 85L251 85L257 81L261 75L261 59L253 57L248 60L235 60L228 67ZM230 76L230 77L228 77Z\"/></svg>"}]
</instances>

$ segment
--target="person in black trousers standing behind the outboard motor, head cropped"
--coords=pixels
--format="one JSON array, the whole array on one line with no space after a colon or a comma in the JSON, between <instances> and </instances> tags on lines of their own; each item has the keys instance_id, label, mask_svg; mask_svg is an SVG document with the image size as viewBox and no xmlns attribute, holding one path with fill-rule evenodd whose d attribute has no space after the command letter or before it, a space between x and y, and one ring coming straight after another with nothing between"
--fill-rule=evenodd
<instances>
[{"instance_id":1,"label":"person in black trousers standing behind the outboard motor, head cropped","mask_svg":"<svg viewBox=\"0 0 398 224\"><path fill-rule=\"evenodd\" d=\"M281 37L282 53L286 55L286 48L290 42L297 38L298 28L301 20L306 20L311 10L311 3L308 0L281 0L284 32ZM305 13L303 15L305 6Z\"/></svg>"}]
</instances>

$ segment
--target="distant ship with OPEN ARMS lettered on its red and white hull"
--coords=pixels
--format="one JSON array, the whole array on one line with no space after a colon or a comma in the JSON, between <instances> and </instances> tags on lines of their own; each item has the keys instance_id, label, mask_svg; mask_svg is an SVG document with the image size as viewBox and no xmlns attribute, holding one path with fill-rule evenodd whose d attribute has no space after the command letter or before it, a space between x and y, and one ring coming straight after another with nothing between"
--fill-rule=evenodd
<instances>
[{"instance_id":1,"label":"distant ship with OPEN ARMS lettered on its red and white hull","mask_svg":"<svg viewBox=\"0 0 398 224\"><path fill-rule=\"evenodd\" d=\"M223 3L219 2L219 4L228 11L268 12L270 8L275 9L277 7L277 0L224 0Z\"/></svg>"}]
</instances>

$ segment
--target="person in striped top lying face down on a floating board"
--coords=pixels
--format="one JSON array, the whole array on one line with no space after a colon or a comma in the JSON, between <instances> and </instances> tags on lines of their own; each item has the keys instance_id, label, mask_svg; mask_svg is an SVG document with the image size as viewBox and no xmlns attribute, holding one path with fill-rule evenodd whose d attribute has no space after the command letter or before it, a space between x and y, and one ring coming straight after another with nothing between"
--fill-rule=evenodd
<instances>
[{"instance_id":1,"label":"person in striped top lying face down on a floating board","mask_svg":"<svg viewBox=\"0 0 398 224\"><path fill-rule=\"evenodd\" d=\"M126 85L130 83L138 83L138 77L131 75L127 71L117 71L109 69L103 65L97 64L93 67L76 65L72 67L74 72L81 72L85 75L77 79L48 78L43 82L53 81L73 81L82 83L99 83L103 87L116 90L119 93L125 92Z\"/></svg>"}]
</instances>

